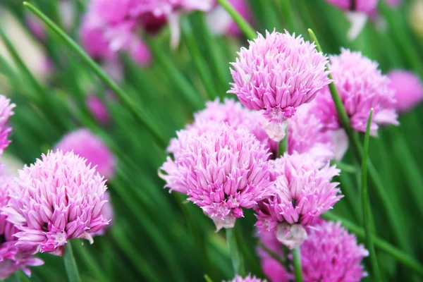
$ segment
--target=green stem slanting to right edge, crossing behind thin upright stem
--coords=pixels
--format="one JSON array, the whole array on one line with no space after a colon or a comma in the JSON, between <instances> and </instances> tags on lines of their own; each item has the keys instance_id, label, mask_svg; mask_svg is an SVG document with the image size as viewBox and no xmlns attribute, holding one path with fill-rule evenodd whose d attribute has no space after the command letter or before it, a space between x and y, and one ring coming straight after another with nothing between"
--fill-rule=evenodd
<instances>
[{"instance_id":1,"label":"green stem slanting to right edge, crossing behind thin upright stem","mask_svg":"<svg viewBox=\"0 0 423 282\"><path fill-rule=\"evenodd\" d=\"M341 216L337 216L335 214L332 214L331 212L326 212L322 216L325 219L329 219L331 221L339 221L345 228L357 235L357 237L362 239L366 238L366 233L364 232L364 229L360 228L359 226L356 226L351 221L348 221L348 219L343 219ZM388 255L391 255L391 257L394 257L398 262L400 262L400 264L407 266L410 270L413 270L417 272L417 274L423 276L422 264L419 264L419 262L416 262L405 252L403 252L402 250L398 250L398 248L394 247L385 240L382 240L381 238L378 238L375 235L372 235L372 238L374 240L374 246L377 247L379 250L386 252Z\"/></svg>"}]
</instances>

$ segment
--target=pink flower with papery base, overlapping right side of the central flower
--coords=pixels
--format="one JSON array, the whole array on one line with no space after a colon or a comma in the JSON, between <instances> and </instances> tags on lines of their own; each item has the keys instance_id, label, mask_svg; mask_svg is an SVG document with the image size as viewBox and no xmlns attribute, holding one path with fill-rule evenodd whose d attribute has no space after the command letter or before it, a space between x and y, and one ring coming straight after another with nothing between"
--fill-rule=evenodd
<instances>
[{"instance_id":1,"label":"pink flower with papery base, overlapping right side of the central flower","mask_svg":"<svg viewBox=\"0 0 423 282\"><path fill-rule=\"evenodd\" d=\"M259 231L274 231L290 248L307 238L302 226L328 211L341 199L338 183L331 183L340 171L314 161L308 154L284 154L274 161L274 183L269 197L255 207Z\"/></svg>"}]
</instances>

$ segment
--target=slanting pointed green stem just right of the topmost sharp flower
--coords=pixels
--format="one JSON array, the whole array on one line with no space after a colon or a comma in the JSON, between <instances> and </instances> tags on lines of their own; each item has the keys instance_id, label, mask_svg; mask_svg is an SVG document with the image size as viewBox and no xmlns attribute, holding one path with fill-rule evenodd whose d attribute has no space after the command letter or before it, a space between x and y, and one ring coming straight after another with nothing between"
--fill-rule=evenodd
<instances>
[{"instance_id":1,"label":"slanting pointed green stem just right of the topmost sharp flower","mask_svg":"<svg viewBox=\"0 0 423 282\"><path fill-rule=\"evenodd\" d=\"M316 44L317 51L323 52L319 44L319 41L317 40L316 35L314 35L314 32L310 29L308 31L309 31L310 37L312 37L312 39L314 40ZM328 66L326 66L326 70L329 71ZM332 80L333 79L332 75L329 74L329 78ZM348 118L348 114L345 111L345 107L343 106L343 102L338 93L338 90L336 89L334 82L331 82L331 84L329 85L329 90L331 91L333 103L335 104L338 117L341 121L341 125L345 129L345 132L347 133L350 139L350 142L353 144L355 157L360 163L362 163L363 148L360 143L360 139L357 135L357 132L353 130L353 128L351 127L350 119ZM402 228L399 225L399 221L396 221L396 218L398 217L398 215L393 209L394 206L391 202L390 197L388 197L386 190L384 189L384 185L381 182L379 173L377 173L376 168L373 166L372 161L370 159L367 160L367 166L369 167L369 176L371 177L372 182L374 183L376 194L379 197L379 200L381 201L382 206L384 207L384 211L386 212L388 221L393 229L393 234L395 235L396 240L398 240L398 242L400 243L401 247L408 249L407 242L405 241L405 238L403 238L403 235L401 232Z\"/></svg>"}]
</instances>

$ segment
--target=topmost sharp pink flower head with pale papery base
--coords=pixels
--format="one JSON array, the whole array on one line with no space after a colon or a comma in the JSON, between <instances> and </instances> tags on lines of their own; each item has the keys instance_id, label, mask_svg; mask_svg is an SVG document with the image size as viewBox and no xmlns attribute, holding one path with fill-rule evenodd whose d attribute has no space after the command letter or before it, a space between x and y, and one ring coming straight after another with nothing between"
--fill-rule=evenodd
<instances>
[{"instance_id":1,"label":"topmost sharp pink flower head with pale papery base","mask_svg":"<svg viewBox=\"0 0 423 282\"><path fill-rule=\"evenodd\" d=\"M283 122L294 116L295 109L312 101L330 82L326 56L288 32L259 35L238 56L232 63L234 83L229 92L248 109L264 111L269 120L266 131L275 141L284 137Z\"/></svg>"}]
</instances>

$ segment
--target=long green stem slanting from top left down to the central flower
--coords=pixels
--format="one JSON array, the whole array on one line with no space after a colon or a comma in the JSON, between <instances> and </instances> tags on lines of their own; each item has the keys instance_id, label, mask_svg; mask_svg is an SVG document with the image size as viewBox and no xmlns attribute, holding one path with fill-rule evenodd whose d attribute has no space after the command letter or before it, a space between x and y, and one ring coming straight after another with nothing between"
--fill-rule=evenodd
<instances>
[{"instance_id":1,"label":"long green stem slanting from top left down to the central flower","mask_svg":"<svg viewBox=\"0 0 423 282\"><path fill-rule=\"evenodd\" d=\"M32 11L32 13L35 13L35 15L38 18L43 20L44 23L46 23L51 28L51 30L54 30L54 32L56 32L56 34L59 35L59 37L61 37L61 39L63 39L63 41L66 42L66 44L68 44L68 46L71 47L71 49L73 49L73 51L75 51L75 53L78 54L82 58L82 61L85 61L85 63L87 63L87 66L90 66L92 71L94 71L94 73L104 83L106 83L106 85L109 86L111 90L113 90L118 95L119 98L121 98L121 101L123 102L123 104L125 104L125 106L128 106L128 109L130 109L130 111L133 112L133 114L138 118L138 121L140 121L140 123L142 123L142 125L144 125L145 128L147 128L149 133L151 133L151 135L156 140L157 145L159 145L163 149L166 148L166 145L167 145L166 139L161 135L160 131L157 129L157 126L153 125L153 123L149 121L149 118L147 118L147 116L143 114L143 111L139 109L138 106L135 105L135 102L133 102L133 99L131 99L128 96L128 94L126 94L121 89L121 87L119 87L116 84L116 82L111 80L111 78L109 78L109 76L107 76L106 73L104 73L102 68L100 68L97 65L97 63L95 63L90 58L90 56L88 56L88 54L85 53L85 51L73 39L71 39L71 37L68 37L68 35L66 35L66 33L63 32L63 30L61 30L59 26L57 26L47 16L45 16L44 13L39 11L37 8L35 8L35 6L32 6L32 4L30 3L23 2L23 5L29 8L30 11Z\"/></svg>"}]
</instances>

